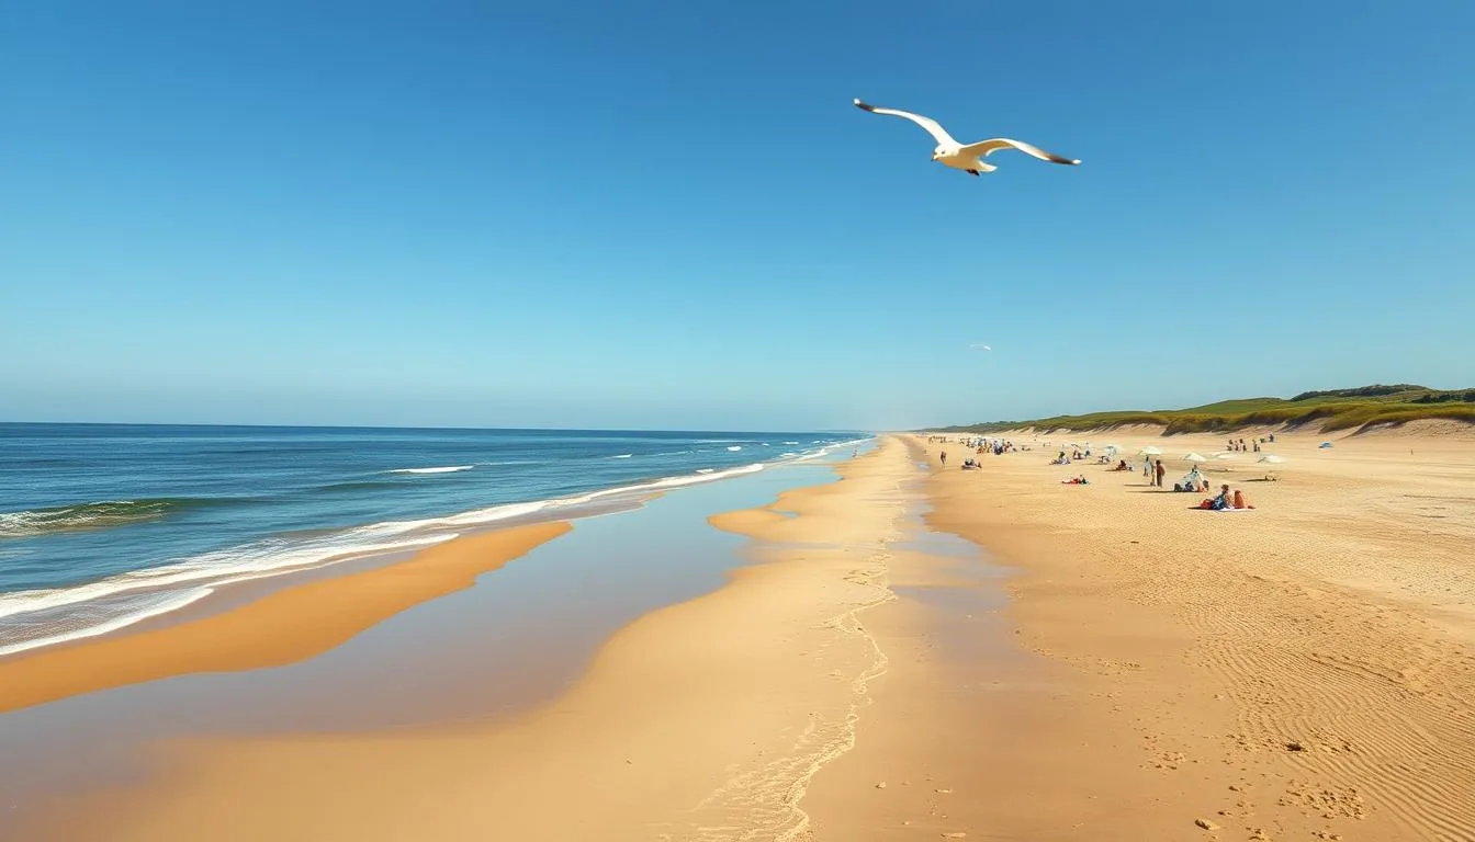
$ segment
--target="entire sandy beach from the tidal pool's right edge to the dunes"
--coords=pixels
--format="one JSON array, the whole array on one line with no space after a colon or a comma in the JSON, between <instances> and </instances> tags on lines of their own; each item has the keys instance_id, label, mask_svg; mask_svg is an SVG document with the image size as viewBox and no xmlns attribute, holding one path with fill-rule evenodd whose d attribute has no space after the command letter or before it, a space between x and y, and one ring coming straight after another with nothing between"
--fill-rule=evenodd
<instances>
[{"instance_id":1,"label":"entire sandy beach from the tidal pool's right edge to the dunes","mask_svg":"<svg viewBox=\"0 0 1475 842\"><path fill-rule=\"evenodd\" d=\"M1277 434L1279 482L1211 463L1233 515L1012 438L959 470L888 436L714 516L752 563L538 709L174 740L25 838L1475 838L1468 428ZM1223 448L1090 439L1162 447L1170 487Z\"/></svg>"}]
</instances>

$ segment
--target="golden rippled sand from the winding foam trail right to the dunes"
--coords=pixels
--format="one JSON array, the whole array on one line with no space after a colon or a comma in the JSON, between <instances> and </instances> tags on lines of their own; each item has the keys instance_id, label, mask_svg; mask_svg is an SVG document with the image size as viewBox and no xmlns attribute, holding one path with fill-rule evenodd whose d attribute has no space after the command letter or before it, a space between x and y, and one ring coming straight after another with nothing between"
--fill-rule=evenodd
<instances>
[{"instance_id":1,"label":"golden rippled sand from the winding foam trail right to the dunes","mask_svg":"<svg viewBox=\"0 0 1475 842\"><path fill-rule=\"evenodd\" d=\"M956 444L914 442L929 522L1019 575L997 618L876 612L894 667L811 790L817 838L1475 839L1475 439L1443 432L1277 434L1279 482L1254 453L1211 463L1243 513L1171 491L1215 436L1040 436L968 472L937 467ZM1168 491L1047 465L1083 438L1162 447ZM943 655L969 625L1018 649Z\"/></svg>"}]
</instances>

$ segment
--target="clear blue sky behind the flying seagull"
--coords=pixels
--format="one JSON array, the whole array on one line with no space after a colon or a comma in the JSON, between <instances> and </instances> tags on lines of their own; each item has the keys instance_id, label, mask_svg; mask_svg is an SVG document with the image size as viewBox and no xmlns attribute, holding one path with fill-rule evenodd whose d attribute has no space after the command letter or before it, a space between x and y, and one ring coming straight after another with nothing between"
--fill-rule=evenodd
<instances>
[{"instance_id":1,"label":"clear blue sky behind the flying seagull","mask_svg":"<svg viewBox=\"0 0 1475 842\"><path fill-rule=\"evenodd\" d=\"M0 420L876 429L1475 385L1468 0L0 15ZM853 97L1084 164L972 178Z\"/></svg>"}]
</instances>

